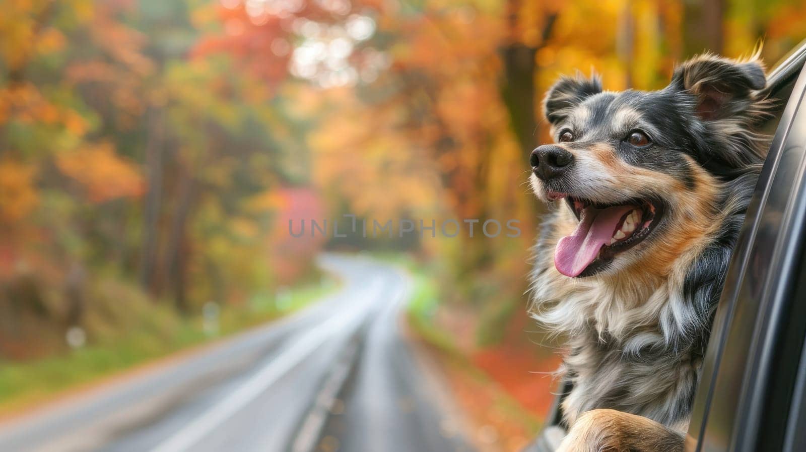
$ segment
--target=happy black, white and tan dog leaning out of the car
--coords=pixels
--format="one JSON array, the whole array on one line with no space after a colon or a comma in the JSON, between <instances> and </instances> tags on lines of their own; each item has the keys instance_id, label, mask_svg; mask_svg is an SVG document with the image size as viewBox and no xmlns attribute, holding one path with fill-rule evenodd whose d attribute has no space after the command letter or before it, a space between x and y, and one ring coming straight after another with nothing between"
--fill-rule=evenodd
<instances>
[{"instance_id":1,"label":"happy black, white and tan dog leaning out of the car","mask_svg":"<svg viewBox=\"0 0 806 452\"><path fill-rule=\"evenodd\" d=\"M530 155L550 205L530 313L567 341L560 452L682 451L769 117L758 52L696 56L657 91L562 77L555 143ZM551 207L553 206L553 208Z\"/></svg>"}]
</instances>

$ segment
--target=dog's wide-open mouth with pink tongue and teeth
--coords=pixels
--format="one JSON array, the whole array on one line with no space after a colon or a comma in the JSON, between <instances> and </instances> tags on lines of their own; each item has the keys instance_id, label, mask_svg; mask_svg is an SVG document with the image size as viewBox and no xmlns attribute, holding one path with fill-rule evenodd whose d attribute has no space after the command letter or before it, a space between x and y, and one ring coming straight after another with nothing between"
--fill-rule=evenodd
<instances>
[{"instance_id":1,"label":"dog's wide-open mouth with pink tongue and teeth","mask_svg":"<svg viewBox=\"0 0 806 452\"><path fill-rule=\"evenodd\" d=\"M598 272L615 255L649 236L663 215L663 204L646 200L619 205L594 204L575 197L566 201L580 224L557 243L555 267L571 277Z\"/></svg>"}]
</instances>

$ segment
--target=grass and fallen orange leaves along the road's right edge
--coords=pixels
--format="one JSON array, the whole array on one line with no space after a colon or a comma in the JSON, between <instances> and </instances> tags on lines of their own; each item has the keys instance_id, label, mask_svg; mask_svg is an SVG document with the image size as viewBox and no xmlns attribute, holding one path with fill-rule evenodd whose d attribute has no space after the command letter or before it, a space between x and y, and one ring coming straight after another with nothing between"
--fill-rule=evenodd
<instances>
[{"instance_id":1,"label":"grass and fallen orange leaves along the road's right edge","mask_svg":"<svg viewBox=\"0 0 806 452\"><path fill-rule=\"evenodd\" d=\"M433 269L412 259L401 263L409 270L414 286L407 311L409 326L430 350L434 350L451 380L459 404L468 411L474 423L482 427L494 425L501 442L517 443L515 449L511 445L501 446L506 450L517 450L539 430L542 421L476 367L472 357L437 325L439 290ZM504 440L506 435L510 437Z\"/></svg>"}]
</instances>

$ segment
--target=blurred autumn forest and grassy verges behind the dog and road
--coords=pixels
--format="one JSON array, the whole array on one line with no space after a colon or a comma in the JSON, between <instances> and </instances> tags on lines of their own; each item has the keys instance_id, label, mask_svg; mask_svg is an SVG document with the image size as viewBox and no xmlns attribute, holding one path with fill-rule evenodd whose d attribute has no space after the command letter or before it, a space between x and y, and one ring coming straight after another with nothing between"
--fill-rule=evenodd
<instances>
[{"instance_id":1,"label":"blurred autumn forest and grassy verges behind the dog and road","mask_svg":"<svg viewBox=\"0 0 806 452\"><path fill-rule=\"evenodd\" d=\"M4 0L0 417L315 304L343 285L316 257L361 252L413 276L473 441L517 450L559 363L524 295L543 93L804 37L800 0Z\"/></svg>"}]
</instances>

